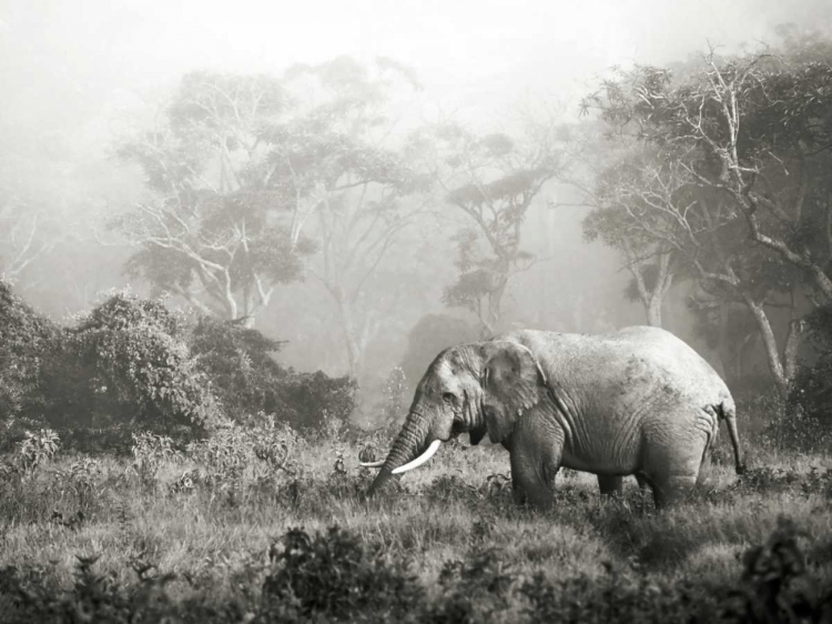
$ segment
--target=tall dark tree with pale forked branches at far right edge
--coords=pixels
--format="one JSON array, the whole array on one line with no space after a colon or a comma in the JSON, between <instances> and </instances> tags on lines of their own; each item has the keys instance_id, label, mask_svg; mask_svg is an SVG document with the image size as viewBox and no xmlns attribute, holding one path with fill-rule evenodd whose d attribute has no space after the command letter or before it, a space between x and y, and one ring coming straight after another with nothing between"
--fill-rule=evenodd
<instances>
[{"instance_id":1,"label":"tall dark tree with pale forked branches at far right edge","mask_svg":"<svg viewBox=\"0 0 832 624\"><path fill-rule=\"evenodd\" d=\"M700 285L742 301L753 315L769 368L785 392L793 379L802 328L800 299L826 302L832 253L830 163L832 70L818 54L713 53L680 81L667 70L619 71L587 101L611 124L636 125L638 137L672 163L680 188L696 200L666 202L679 229L645 231L683 252ZM686 211L682 205L689 205ZM680 234L682 235L680 238ZM783 302L785 298L785 302ZM788 305L782 349L767 306Z\"/></svg>"}]
</instances>

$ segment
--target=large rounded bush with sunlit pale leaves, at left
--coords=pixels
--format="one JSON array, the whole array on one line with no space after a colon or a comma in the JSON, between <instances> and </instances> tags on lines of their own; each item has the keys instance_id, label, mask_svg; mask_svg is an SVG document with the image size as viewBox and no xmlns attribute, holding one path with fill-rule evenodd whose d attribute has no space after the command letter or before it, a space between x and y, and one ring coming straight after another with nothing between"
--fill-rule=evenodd
<instances>
[{"instance_id":1,"label":"large rounded bush with sunlit pale leaves, at left","mask_svg":"<svg viewBox=\"0 0 832 624\"><path fill-rule=\"evenodd\" d=\"M55 427L193 435L219 409L190 356L184 325L160 302L116 292L65 331L45 380Z\"/></svg>"}]
</instances>

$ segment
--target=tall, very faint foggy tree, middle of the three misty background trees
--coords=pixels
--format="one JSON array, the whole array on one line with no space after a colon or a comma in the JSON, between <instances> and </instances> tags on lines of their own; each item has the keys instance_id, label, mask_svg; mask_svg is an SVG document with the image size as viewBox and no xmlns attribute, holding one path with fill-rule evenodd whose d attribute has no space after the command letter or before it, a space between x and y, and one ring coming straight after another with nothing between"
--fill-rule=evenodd
<instances>
[{"instance_id":1,"label":"tall, very faint foggy tree, middle of the three misty background trees","mask_svg":"<svg viewBox=\"0 0 832 624\"><path fill-rule=\"evenodd\" d=\"M402 280L384 289L376 282L427 207L428 181L395 134L419 84L387 59L363 66L341 57L291 68L284 87L295 112L264 127L262 137L275 145L264 170L298 207L293 240L306 232L319 246L311 273L335 305L347 366L357 375L407 290Z\"/></svg>"}]
</instances>

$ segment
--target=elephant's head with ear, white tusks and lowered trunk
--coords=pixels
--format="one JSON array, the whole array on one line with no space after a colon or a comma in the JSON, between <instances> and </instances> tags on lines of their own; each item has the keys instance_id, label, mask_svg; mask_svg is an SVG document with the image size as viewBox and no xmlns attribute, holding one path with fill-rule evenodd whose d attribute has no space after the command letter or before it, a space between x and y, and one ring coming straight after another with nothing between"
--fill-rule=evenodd
<instances>
[{"instance_id":1,"label":"elephant's head with ear, white tusks and lowered trunk","mask_svg":"<svg viewBox=\"0 0 832 624\"><path fill-rule=\"evenodd\" d=\"M381 467L371 494L394 474L428 461L443 442L460 433L478 444L508 443L518 413L537 403L546 376L526 346L508 341L463 344L443 351L422 378L405 423Z\"/></svg>"}]
</instances>

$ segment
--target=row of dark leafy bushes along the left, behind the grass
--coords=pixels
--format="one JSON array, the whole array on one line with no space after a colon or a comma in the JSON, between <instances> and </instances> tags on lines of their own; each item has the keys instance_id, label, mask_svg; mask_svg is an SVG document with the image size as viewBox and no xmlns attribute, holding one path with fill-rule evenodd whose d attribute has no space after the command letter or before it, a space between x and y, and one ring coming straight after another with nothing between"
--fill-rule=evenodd
<instances>
[{"instance_id":1,"label":"row of dark leafy bushes along the left, behind the grass","mask_svg":"<svg viewBox=\"0 0 832 624\"><path fill-rule=\"evenodd\" d=\"M271 356L280 348L240 323L125 292L59 326L0 281L4 443L41 426L64 445L129 451L134 433L190 440L264 414L298 431L345 422L354 380L281 366Z\"/></svg>"}]
</instances>

